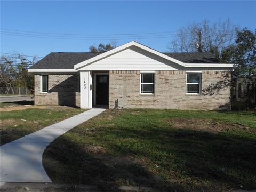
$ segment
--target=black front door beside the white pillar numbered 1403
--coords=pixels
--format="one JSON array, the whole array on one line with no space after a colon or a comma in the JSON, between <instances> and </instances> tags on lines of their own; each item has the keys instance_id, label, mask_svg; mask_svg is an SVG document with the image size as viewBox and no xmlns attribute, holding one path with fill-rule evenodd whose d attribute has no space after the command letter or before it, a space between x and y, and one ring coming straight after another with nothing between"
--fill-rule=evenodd
<instances>
[{"instance_id":1,"label":"black front door beside the white pillar numbered 1403","mask_svg":"<svg viewBox=\"0 0 256 192\"><path fill-rule=\"evenodd\" d=\"M96 105L108 105L108 77L96 74Z\"/></svg>"}]
</instances>

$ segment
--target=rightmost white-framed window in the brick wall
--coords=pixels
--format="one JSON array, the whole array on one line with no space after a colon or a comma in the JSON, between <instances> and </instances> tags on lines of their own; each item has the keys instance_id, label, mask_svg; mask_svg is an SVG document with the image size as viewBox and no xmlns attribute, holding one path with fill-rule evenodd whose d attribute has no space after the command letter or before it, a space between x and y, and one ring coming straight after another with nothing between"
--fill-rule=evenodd
<instances>
[{"instance_id":1,"label":"rightmost white-framed window in the brick wall","mask_svg":"<svg viewBox=\"0 0 256 192\"><path fill-rule=\"evenodd\" d=\"M201 94L201 73L187 73L186 93Z\"/></svg>"}]
</instances>

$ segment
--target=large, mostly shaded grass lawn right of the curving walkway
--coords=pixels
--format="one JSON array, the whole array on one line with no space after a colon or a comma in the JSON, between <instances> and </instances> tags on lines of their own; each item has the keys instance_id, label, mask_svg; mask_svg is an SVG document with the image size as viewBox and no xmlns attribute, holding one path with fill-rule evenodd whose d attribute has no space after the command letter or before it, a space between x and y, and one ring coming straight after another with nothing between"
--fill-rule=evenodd
<instances>
[{"instance_id":1,"label":"large, mostly shaded grass lawn right of the curving walkway","mask_svg":"<svg viewBox=\"0 0 256 192\"><path fill-rule=\"evenodd\" d=\"M53 182L106 191L255 189L255 130L249 112L109 109L54 140L43 164Z\"/></svg>"}]
</instances>

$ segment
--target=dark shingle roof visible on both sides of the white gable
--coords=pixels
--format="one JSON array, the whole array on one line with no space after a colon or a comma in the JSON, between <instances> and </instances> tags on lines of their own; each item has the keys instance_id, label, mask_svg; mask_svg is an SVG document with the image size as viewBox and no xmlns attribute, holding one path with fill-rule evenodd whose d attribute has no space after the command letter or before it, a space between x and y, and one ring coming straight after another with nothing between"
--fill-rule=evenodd
<instances>
[{"instance_id":1,"label":"dark shingle roof visible on both sides of the white gable","mask_svg":"<svg viewBox=\"0 0 256 192\"><path fill-rule=\"evenodd\" d=\"M74 69L74 65L101 53L50 53L30 69ZM163 53L185 63L220 63L212 53Z\"/></svg>"}]
</instances>

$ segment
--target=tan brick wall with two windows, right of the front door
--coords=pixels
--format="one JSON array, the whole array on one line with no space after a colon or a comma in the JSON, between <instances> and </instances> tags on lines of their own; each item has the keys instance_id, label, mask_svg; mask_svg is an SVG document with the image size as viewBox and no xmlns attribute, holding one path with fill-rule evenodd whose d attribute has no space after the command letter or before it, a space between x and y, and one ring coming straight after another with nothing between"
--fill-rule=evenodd
<instances>
[{"instance_id":1,"label":"tan brick wall with two windows, right of the front door","mask_svg":"<svg viewBox=\"0 0 256 192\"><path fill-rule=\"evenodd\" d=\"M140 94L139 71L109 71L109 108L229 109L230 73L202 72L202 94L187 95L186 71L156 71L155 94Z\"/></svg>"}]
</instances>

